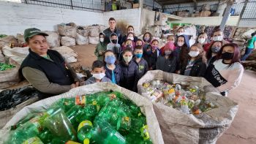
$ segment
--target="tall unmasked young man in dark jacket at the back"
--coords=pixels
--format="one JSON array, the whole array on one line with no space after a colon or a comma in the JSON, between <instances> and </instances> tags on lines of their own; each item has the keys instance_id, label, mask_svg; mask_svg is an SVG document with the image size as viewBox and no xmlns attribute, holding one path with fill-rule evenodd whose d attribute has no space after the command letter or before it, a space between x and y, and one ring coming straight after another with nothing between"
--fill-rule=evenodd
<instances>
[{"instance_id":1,"label":"tall unmasked young man in dark jacket at the back","mask_svg":"<svg viewBox=\"0 0 256 144\"><path fill-rule=\"evenodd\" d=\"M116 20L115 20L115 18L110 18L108 20L108 25L109 25L109 28L105 29L103 31L103 33L105 34L105 42L107 44L110 43L110 34L116 33L117 37L118 37L118 44L121 45L122 35L121 35L121 31L119 29L116 29Z\"/></svg>"}]
</instances>

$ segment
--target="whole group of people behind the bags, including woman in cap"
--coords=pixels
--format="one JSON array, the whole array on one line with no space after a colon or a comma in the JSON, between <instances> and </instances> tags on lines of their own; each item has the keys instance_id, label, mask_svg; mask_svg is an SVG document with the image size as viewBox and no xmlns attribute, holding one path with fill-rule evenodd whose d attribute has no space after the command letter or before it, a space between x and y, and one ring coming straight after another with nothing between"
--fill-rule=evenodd
<instances>
[{"instance_id":1,"label":"whole group of people behind the bags, including woman in cap","mask_svg":"<svg viewBox=\"0 0 256 144\"><path fill-rule=\"evenodd\" d=\"M239 85L244 72L238 45L226 42L219 29L214 31L211 42L203 33L194 45L189 45L189 36L184 32L181 27L176 34L168 35L165 46L159 48L159 41L149 32L143 34L142 39L136 37L133 26L128 26L127 35L122 36L116 29L116 20L110 18L109 28L99 34L92 77L83 83L110 82L137 91L138 80L148 70L159 69L205 77L223 96L227 96L228 91ZM20 75L44 96L53 96L81 83L64 58L55 50L48 49L47 36L39 29L25 30L29 56L20 66Z\"/></svg>"}]
</instances>

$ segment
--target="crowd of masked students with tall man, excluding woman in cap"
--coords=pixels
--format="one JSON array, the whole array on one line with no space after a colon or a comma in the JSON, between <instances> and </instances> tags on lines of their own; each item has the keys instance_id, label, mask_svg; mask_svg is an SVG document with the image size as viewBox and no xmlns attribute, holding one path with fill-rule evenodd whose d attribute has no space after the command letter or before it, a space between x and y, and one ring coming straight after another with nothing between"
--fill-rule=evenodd
<instances>
[{"instance_id":1,"label":"crowd of masked students with tall man, excluding woman in cap","mask_svg":"<svg viewBox=\"0 0 256 144\"><path fill-rule=\"evenodd\" d=\"M95 63L102 63L103 69L98 81L116 83L137 91L138 80L148 70L159 69L205 77L223 96L227 96L228 91L241 82L244 68L240 64L240 49L235 43L225 41L220 29L214 31L211 42L208 42L208 35L203 33L199 34L194 45L189 45L190 36L180 27L176 34L168 35L165 46L159 48L159 41L149 32L139 39L133 26L128 26L127 35L122 36L116 29L114 18L109 19L109 25L109 29L99 34L100 42L95 50L98 60L94 61L92 67L95 67ZM99 75L94 70L92 74Z\"/></svg>"}]
</instances>

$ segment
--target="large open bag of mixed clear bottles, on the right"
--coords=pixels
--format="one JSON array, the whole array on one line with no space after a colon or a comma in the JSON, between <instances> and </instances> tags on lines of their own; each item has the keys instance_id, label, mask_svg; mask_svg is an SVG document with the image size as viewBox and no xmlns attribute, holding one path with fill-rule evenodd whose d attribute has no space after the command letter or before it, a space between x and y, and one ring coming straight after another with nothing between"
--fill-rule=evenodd
<instances>
[{"instance_id":1,"label":"large open bag of mixed clear bottles, on the right","mask_svg":"<svg viewBox=\"0 0 256 144\"><path fill-rule=\"evenodd\" d=\"M204 100L193 95L196 89ZM221 96L203 77L148 71L138 82L138 93L154 104L165 143L216 143L238 110L236 102Z\"/></svg>"}]
</instances>

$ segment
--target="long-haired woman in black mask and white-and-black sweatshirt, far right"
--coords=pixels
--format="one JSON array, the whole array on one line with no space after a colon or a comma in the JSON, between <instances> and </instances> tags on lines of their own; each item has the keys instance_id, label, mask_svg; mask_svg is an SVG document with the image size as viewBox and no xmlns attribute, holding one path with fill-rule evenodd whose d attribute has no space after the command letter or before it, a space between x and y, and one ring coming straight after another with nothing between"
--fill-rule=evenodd
<instances>
[{"instance_id":1,"label":"long-haired woman in black mask and white-and-black sweatshirt, far right","mask_svg":"<svg viewBox=\"0 0 256 144\"><path fill-rule=\"evenodd\" d=\"M217 55L217 61L209 64L205 78L213 86L217 87L222 96L236 88L244 73L244 67L240 64L240 49L234 43L222 46Z\"/></svg>"}]
</instances>

